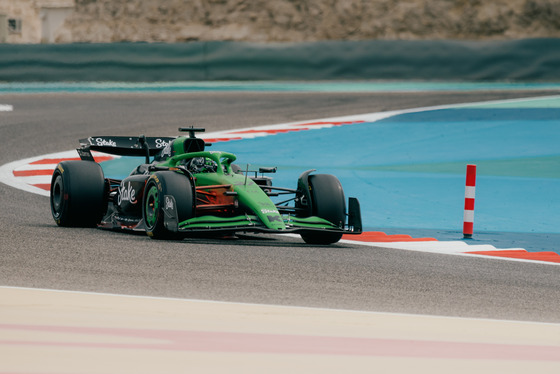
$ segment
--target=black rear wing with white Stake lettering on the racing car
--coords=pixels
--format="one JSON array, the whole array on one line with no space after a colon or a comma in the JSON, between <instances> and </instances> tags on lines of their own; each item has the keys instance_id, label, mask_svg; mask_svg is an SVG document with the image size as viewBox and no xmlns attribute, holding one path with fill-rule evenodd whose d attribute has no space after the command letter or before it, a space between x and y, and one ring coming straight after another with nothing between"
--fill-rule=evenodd
<instances>
[{"instance_id":1,"label":"black rear wing with white Stake lettering on the racing car","mask_svg":"<svg viewBox=\"0 0 560 374\"><path fill-rule=\"evenodd\" d=\"M155 156L160 153L171 155L171 142L175 137L92 136L80 139L77 149L82 160L94 161L91 151L119 156Z\"/></svg>"}]
</instances>

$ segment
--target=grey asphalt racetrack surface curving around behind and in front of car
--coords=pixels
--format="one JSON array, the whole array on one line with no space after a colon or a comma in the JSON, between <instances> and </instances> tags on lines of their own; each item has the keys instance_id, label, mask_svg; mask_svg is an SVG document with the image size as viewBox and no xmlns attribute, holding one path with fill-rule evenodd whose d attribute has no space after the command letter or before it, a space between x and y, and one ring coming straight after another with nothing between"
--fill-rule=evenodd
<instances>
[{"instance_id":1,"label":"grey asphalt racetrack surface curving around behind and in front of car","mask_svg":"<svg viewBox=\"0 0 560 374\"><path fill-rule=\"evenodd\" d=\"M0 163L90 135L174 135L550 95L121 93L0 95ZM366 193L366 192L364 192ZM380 312L560 322L560 267L284 236L161 242L55 225L48 199L0 184L0 285Z\"/></svg>"}]
</instances>

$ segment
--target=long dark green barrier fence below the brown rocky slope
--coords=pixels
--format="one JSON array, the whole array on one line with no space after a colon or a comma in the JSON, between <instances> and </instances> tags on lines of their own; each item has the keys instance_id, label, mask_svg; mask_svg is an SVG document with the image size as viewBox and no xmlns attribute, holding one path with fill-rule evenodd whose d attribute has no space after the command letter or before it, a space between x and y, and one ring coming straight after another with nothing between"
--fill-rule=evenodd
<instances>
[{"instance_id":1,"label":"long dark green barrier fence below the brown rocky slope","mask_svg":"<svg viewBox=\"0 0 560 374\"><path fill-rule=\"evenodd\" d=\"M560 81L560 39L0 44L0 81Z\"/></svg>"}]
</instances>

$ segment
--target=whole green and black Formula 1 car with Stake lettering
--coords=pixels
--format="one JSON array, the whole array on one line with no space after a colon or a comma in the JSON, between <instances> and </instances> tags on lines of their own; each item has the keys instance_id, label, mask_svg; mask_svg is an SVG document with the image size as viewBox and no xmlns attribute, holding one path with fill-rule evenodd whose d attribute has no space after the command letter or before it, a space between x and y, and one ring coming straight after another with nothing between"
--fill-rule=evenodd
<instances>
[{"instance_id":1,"label":"whole green and black Formula 1 car with Stake lettering","mask_svg":"<svg viewBox=\"0 0 560 374\"><path fill-rule=\"evenodd\" d=\"M347 212L336 177L309 170L295 189L275 187L265 174L276 168L241 170L235 155L205 150L210 144L195 136L204 129L179 130L189 135L80 140L81 161L61 162L52 176L56 223L140 230L154 239L265 232L330 244L343 234L361 233L358 200L348 200ZM142 156L145 163L122 180L105 178L91 151Z\"/></svg>"}]
</instances>

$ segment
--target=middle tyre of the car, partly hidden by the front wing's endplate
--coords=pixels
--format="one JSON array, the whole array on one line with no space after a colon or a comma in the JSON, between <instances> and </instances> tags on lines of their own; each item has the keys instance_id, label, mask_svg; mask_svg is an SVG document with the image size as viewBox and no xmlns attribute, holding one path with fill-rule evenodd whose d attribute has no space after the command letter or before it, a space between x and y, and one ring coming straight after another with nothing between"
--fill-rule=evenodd
<instances>
[{"instance_id":1,"label":"middle tyre of the car, partly hidden by the front wing's endplate","mask_svg":"<svg viewBox=\"0 0 560 374\"><path fill-rule=\"evenodd\" d=\"M146 182L142 202L142 218L146 225L146 233L152 239L182 239L181 233L170 231L165 227L165 195L175 198L179 223L193 217L193 190L190 180L174 171L154 173Z\"/></svg>"}]
</instances>

